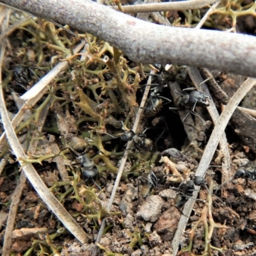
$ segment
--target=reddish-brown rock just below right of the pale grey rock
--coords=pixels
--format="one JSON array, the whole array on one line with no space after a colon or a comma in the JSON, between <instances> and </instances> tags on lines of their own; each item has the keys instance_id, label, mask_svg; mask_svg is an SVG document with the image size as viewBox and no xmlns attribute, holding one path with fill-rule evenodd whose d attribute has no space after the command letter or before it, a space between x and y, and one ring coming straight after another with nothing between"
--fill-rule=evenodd
<instances>
[{"instance_id":1,"label":"reddish-brown rock just below right of the pale grey rock","mask_svg":"<svg viewBox=\"0 0 256 256\"><path fill-rule=\"evenodd\" d=\"M154 228L161 236L163 241L172 241L177 225L180 219L180 212L175 206L170 207L167 211L163 212Z\"/></svg>"}]
</instances>

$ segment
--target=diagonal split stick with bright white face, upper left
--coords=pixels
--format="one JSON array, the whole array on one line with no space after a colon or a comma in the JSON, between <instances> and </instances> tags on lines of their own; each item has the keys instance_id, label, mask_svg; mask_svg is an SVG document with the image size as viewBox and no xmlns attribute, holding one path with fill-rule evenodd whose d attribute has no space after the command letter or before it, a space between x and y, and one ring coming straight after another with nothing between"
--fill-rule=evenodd
<instances>
[{"instance_id":1,"label":"diagonal split stick with bright white face, upper left","mask_svg":"<svg viewBox=\"0 0 256 256\"><path fill-rule=\"evenodd\" d=\"M81 42L81 44L77 45L77 47L74 49L74 54L79 52L83 48L84 44L85 42L83 41ZM60 74L60 72L65 70L67 67L68 67L67 61L63 61L59 63L58 65L56 65L56 67L52 68L52 70L46 76L42 77L42 79L38 81L38 83L36 83L35 86L31 88L31 90L29 90L28 92L24 93L24 95L22 95L22 99L26 100L26 102L12 120L12 125L14 129L23 120L24 115L26 114L26 111L29 108L33 108L36 102L38 102L38 100L41 99L42 95L44 95L45 93L45 90L47 90L47 85L52 81L52 79L58 76L58 74ZM36 88L36 90L33 88ZM4 145L4 141L5 141L5 132L1 135L0 145Z\"/></svg>"}]
</instances>

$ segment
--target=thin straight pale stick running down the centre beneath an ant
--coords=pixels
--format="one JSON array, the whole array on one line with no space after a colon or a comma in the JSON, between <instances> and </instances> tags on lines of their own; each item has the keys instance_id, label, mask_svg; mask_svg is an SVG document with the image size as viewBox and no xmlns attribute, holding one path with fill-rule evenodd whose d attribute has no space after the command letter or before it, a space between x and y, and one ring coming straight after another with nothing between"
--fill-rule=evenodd
<instances>
[{"instance_id":1,"label":"thin straight pale stick running down the centre beneath an ant","mask_svg":"<svg viewBox=\"0 0 256 256\"><path fill-rule=\"evenodd\" d=\"M150 72L150 74L154 74L154 72ZM148 77L148 81L147 81L147 84L150 84L151 83L151 76ZM148 93L150 91L150 86L146 86L145 88L145 92L143 94L143 97L141 99L141 104L140 104L140 108L138 109L138 112L137 112L137 115L136 115L136 118L135 118L135 121L134 121L134 124L133 124L133 127L132 127L132 131L136 132L137 130L137 127L138 127L138 124L140 122L140 116L143 112L143 108L145 106L145 102L148 98ZM120 166L119 166L119 169L118 169L118 173L116 175L116 180L115 180L115 184L114 184L114 188L112 190L112 193L111 193L111 196L110 196L110 199L109 199L109 203L108 203L108 208L107 208L107 211L110 211L111 210L111 206L113 204L113 201L115 199L115 195L116 195L116 190L118 189L118 186L119 186L119 183L120 183L120 180L121 180L121 177L122 177L122 173L124 171L124 167L125 167L125 164L126 164L126 161L127 161L127 157L128 157L128 150L129 148L132 147L132 141L129 141L127 143L127 146L125 148L125 154L124 156L122 157L121 159L121 162L120 162ZM96 256L97 255L97 251L98 251L98 246L97 246L97 243L100 242L100 239L102 237L102 234L103 234L103 231L104 231L104 228L106 226L106 218L104 218L104 220L102 220L102 224L101 224L101 227L100 227L100 230L99 230L99 233L98 233L98 236L97 236L97 239L95 241L95 246L93 248L93 252L92 252L92 256Z\"/></svg>"}]
</instances>

